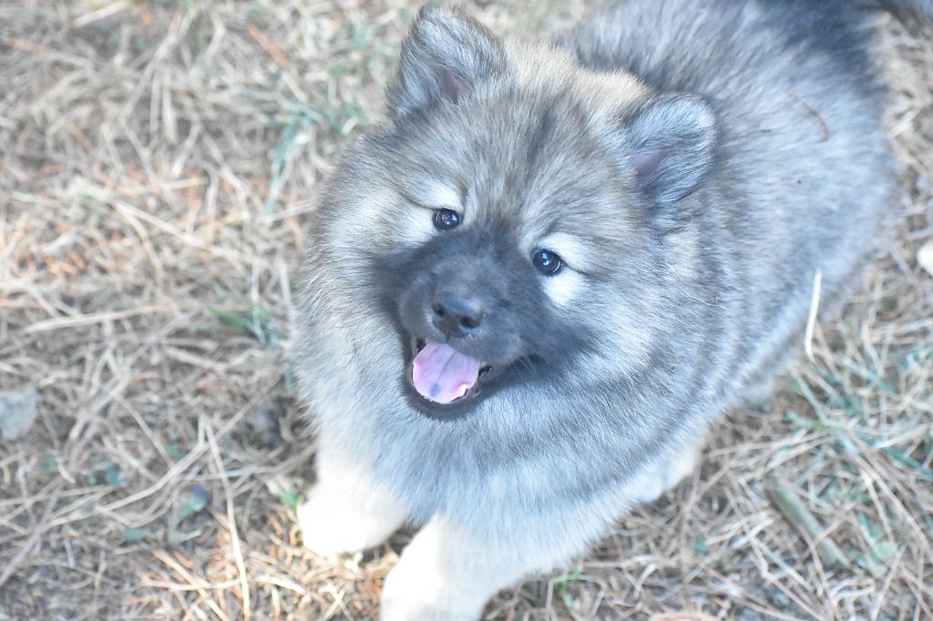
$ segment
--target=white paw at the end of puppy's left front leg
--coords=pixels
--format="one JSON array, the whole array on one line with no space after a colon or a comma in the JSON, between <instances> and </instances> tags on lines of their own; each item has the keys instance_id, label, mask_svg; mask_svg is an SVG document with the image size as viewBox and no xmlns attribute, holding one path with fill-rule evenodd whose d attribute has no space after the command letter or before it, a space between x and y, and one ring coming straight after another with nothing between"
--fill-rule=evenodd
<instances>
[{"instance_id":1,"label":"white paw at the end of puppy's left front leg","mask_svg":"<svg viewBox=\"0 0 933 621\"><path fill-rule=\"evenodd\" d=\"M395 531L399 519L376 516L312 490L298 510L301 541L314 554L334 559L380 545Z\"/></svg>"}]
</instances>

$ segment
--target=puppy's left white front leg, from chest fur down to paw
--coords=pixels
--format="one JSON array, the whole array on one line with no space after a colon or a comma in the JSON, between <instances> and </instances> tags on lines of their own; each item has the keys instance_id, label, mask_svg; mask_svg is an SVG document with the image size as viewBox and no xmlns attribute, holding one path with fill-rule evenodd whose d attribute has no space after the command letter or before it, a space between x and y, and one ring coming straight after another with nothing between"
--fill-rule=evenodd
<instances>
[{"instance_id":1,"label":"puppy's left white front leg, from chest fur down to paw","mask_svg":"<svg viewBox=\"0 0 933 621\"><path fill-rule=\"evenodd\" d=\"M408 518L406 508L350 460L320 453L317 482L299 507L302 541L324 557L385 541Z\"/></svg>"}]
</instances>

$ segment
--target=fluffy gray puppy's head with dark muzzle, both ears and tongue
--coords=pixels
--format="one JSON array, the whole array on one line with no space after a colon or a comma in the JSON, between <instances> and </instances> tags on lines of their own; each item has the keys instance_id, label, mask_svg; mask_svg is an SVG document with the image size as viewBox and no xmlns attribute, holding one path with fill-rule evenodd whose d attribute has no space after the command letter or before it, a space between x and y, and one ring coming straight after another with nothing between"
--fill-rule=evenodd
<instances>
[{"instance_id":1,"label":"fluffy gray puppy's head with dark muzzle, both ears and tongue","mask_svg":"<svg viewBox=\"0 0 933 621\"><path fill-rule=\"evenodd\" d=\"M437 10L389 103L334 181L331 230L402 342L413 405L468 411L510 382L599 380L647 355L652 249L711 165L706 104Z\"/></svg>"}]
</instances>

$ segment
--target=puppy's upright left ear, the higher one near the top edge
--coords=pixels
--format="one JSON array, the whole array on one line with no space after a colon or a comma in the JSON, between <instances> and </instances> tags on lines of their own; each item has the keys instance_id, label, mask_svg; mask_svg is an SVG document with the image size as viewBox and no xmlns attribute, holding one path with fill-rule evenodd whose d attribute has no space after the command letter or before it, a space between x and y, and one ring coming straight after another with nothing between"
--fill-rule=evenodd
<instances>
[{"instance_id":1,"label":"puppy's upright left ear, the higher one near the top edge","mask_svg":"<svg viewBox=\"0 0 933 621\"><path fill-rule=\"evenodd\" d=\"M389 108L396 117L456 103L506 65L502 44L459 9L424 7L402 44Z\"/></svg>"}]
</instances>

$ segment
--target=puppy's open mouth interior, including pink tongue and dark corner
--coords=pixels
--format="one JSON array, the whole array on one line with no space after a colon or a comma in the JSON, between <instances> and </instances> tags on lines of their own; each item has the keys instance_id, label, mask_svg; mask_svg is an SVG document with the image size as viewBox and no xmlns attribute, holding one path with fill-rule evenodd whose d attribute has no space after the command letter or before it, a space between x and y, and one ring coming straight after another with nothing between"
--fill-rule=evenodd
<instances>
[{"instance_id":1,"label":"puppy's open mouth interior, including pink tongue and dark corner","mask_svg":"<svg viewBox=\"0 0 933 621\"><path fill-rule=\"evenodd\" d=\"M482 384L494 376L493 371L494 366L446 343L411 339L407 379L415 392L434 404L446 406L475 398Z\"/></svg>"}]
</instances>

